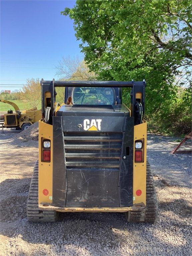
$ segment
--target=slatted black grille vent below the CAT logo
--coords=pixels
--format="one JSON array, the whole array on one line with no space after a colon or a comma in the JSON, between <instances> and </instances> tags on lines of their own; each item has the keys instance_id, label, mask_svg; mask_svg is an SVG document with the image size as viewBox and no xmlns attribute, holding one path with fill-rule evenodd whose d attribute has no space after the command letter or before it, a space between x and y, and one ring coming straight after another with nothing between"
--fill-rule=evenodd
<instances>
[{"instance_id":1,"label":"slatted black grille vent below the CAT logo","mask_svg":"<svg viewBox=\"0 0 192 256\"><path fill-rule=\"evenodd\" d=\"M122 133L64 133L67 168L119 168Z\"/></svg>"}]
</instances>

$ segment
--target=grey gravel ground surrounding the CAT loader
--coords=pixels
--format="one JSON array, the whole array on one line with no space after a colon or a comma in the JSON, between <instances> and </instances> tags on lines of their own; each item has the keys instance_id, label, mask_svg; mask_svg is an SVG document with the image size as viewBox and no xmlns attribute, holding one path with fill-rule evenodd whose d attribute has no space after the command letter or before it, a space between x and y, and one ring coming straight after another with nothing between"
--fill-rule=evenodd
<instances>
[{"instance_id":1,"label":"grey gravel ground surrounding the CAT loader","mask_svg":"<svg viewBox=\"0 0 192 256\"><path fill-rule=\"evenodd\" d=\"M1 256L192 254L191 155L169 154L177 138L148 135L159 201L155 225L129 224L123 213L61 213L56 223L30 223L26 201L38 145L21 135L1 135Z\"/></svg>"}]
</instances>

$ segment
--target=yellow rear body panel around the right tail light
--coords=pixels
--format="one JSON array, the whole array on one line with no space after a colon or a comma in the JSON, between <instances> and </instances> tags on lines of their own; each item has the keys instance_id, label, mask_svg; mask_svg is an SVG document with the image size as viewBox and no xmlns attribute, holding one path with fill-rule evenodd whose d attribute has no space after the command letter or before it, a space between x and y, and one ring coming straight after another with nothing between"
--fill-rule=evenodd
<instances>
[{"instance_id":1,"label":"yellow rear body panel around the right tail light","mask_svg":"<svg viewBox=\"0 0 192 256\"><path fill-rule=\"evenodd\" d=\"M146 165L147 165L147 123L134 126L134 145L136 140L144 138L144 161L143 163L135 163L135 147L133 159L133 203L144 203L146 205ZM136 195L136 191L140 189L142 194Z\"/></svg>"}]
</instances>

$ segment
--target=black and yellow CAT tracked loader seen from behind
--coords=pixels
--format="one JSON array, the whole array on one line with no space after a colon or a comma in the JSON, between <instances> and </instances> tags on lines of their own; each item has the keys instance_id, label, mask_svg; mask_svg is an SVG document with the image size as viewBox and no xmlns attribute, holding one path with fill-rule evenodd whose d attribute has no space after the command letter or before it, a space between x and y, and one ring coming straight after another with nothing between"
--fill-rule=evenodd
<instances>
[{"instance_id":1,"label":"black and yellow CAT tracked loader seen from behind","mask_svg":"<svg viewBox=\"0 0 192 256\"><path fill-rule=\"evenodd\" d=\"M44 81L39 160L31 180L29 221L58 212L124 212L129 222L157 219L146 158L145 81ZM56 87L65 87L56 103ZM131 108L122 104L131 88Z\"/></svg>"}]
</instances>

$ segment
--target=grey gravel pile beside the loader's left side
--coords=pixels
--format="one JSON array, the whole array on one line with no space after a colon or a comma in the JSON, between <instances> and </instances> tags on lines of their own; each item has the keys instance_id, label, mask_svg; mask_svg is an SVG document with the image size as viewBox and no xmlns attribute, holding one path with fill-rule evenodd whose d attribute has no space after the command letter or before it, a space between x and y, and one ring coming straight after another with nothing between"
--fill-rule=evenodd
<instances>
[{"instance_id":1,"label":"grey gravel pile beside the loader's left side","mask_svg":"<svg viewBox=\"0 0 192 256\"><path fill-rule=\"evenodd\" d=\"M15 138L24 139L24 140L38 140L38 136L39 136L39 123L36 122L26 130L17 134Z\"/></svg>"}]
</instances>

